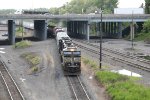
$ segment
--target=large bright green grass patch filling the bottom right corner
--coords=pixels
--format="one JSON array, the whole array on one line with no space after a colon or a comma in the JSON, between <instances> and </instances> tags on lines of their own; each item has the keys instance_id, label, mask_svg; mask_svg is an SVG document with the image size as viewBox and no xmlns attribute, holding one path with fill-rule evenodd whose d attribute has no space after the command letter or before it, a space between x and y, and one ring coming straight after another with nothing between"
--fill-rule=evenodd
<instances>
[{"instance_id":1,"label":"large bright green grass patch filling the bottom right corner","mask_svg":"<svg viewBox=\"0 0 150 100\"><path fill-rule=\"evenodd\" d=\"M112 100L149 100L150 98L150 88L135 84L133 81L135 78L109 71L98 71L96 78L106 87Z\"/></svg>"}]
</instances>

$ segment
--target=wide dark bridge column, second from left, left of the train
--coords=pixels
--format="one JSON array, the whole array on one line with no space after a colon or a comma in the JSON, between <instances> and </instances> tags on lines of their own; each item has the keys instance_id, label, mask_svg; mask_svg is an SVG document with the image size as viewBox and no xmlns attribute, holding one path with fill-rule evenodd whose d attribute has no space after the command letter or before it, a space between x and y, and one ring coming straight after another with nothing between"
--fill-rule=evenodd
<instances>
[{"instance_id":1,"label":"wide dark bridge column, second from left, left of the train","mask_svg":"<svg viewBox=\"0 0 150 100\"><path fill-rule=\"evenodd\" d=\"M34 20L34 35L40 40L46 40L47 22L45 20Z\"/></svg>"}]
</instances>

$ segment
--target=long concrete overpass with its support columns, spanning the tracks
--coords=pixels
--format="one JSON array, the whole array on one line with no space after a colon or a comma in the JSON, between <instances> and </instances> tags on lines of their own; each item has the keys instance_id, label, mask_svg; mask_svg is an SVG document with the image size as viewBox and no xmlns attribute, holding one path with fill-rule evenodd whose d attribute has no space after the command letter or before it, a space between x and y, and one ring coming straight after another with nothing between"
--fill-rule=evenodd
<instances>
[{"instance_id":1,"label":"long concrete overpass with its support columns, spanning the tracks","mask_svg":"<svg viewBox=\"0 0 150 100\"><path fill-rule=\"evenodd\" d=\"M27 14L9 14L0 15L0 20L8 20L8 33L10 44L15 43L15 20L34 20L34 33L40 40L47 38L48 20L67 21L67 31L72 36L83 36L89 40L90 23L98 23L100 30L100 14L64 14L64 15L27 15ZM144 22L150 19L150 14L103 14L102 15L102 32L103 35L113 35L118 38L122 37L122 22ZM131 26L133 27L133 26Z\"/></svg>"}]
</instances>

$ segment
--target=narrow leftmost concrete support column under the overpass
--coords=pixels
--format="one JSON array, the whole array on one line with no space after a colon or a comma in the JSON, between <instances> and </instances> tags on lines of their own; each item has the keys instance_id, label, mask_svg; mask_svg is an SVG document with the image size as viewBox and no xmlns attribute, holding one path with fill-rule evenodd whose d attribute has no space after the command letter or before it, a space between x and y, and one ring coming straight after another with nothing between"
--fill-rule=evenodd
<instances>
[{"instance_id":1,"label":"narrow leftmost concrete support column under the overpass","mask_svg":"<svg viewBox=\"0 0 150 100\"><path fill-rule=\"evenodd\" d=\"M9 43L15 44L15 21L8 20L8 39Z\"/></svg>"}]
</instances>

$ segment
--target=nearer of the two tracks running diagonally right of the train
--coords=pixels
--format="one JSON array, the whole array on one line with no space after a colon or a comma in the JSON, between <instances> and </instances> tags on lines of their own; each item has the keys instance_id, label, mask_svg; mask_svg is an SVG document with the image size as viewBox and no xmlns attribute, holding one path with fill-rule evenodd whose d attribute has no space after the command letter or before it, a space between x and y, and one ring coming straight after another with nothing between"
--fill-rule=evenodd
<instances>
[{"instance_id":1,"label":"nearer of the two tracks running diagonally right of the train","mask_svg":"<svg viewBox=\"0 0 150 100\"><path fill-rule=\"evenodd\" d=\"M81 45L81 44L78 44L78 43L74 43L74 44L77 45L79 48L84 49L84 50L87 50L87 51L89 51L89 52L92 52L92 53L94 53L94 54L96 54L96 55L99 55L99 54L100 54L100 53L99 53L99 50L95 50L95 49L93 49L93 48L87 47L86 45ZM102 53L102 56L104 56L104 57L109 57L110 59L112 59L112 60L114 60L114 61L117 61L117 62L126 64L126 65L128 65L128 66L131 66L131 67L134 67L134 68L138 68L138 69L142 69L142 70L144 70L144 71L150 72L150 67L147 67L147 66L144 66L144 65L141 65L141 64L137 64L137 63L135 63L135 62L133 62L133 61L129 61L129 60L124 59L124 58L122 58L122 57L116 57L116 56L112 56L112 55L106 54L106 53ZM99 56L98 56L97 58L99 58Z\"/></svg>"}]
</instances>

